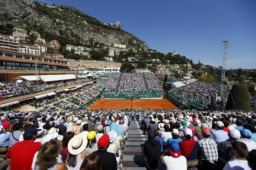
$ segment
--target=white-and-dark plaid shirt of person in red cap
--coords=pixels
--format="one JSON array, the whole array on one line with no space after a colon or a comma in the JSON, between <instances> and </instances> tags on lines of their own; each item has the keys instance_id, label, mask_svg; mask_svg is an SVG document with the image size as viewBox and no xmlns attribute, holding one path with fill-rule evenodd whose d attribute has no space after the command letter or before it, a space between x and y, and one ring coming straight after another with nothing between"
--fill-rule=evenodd
<instances>
[{"instance_id":1,"label":"white-and-dark plaid shirt of person in red cap","mask_svg":"<svg viewBox=\"0 0 256 170\"><path fill-rule=\"evenodd\" d=\"M201 154L200 159L206 159L210 162L217 161L218 157L218 146L216 142L211 138L204 138L198 141Z\"/></svg>"}]
</instances>

